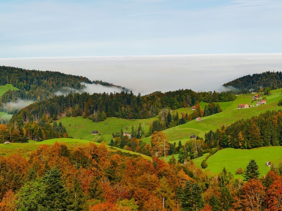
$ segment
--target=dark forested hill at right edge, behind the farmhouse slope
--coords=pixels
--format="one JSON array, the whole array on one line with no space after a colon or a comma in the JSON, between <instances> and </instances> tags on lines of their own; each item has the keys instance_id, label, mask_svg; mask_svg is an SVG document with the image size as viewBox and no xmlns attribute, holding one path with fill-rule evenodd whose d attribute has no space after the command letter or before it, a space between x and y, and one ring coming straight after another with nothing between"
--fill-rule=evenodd
<instances>
[{"instance_id":1,"label":"dark forested hill at right edge, behind the farmhouse slope","mask_svg":"<svg viewBox=\"0 0 282 211\"><path fill-rule=\"evenodd\" d=\"M223 86L233 86L242 93L247 93L251 90L268 92L282 87L282 73L268 71L260 74L246 75L223 84Z\"/></svg>"}]
</instances>

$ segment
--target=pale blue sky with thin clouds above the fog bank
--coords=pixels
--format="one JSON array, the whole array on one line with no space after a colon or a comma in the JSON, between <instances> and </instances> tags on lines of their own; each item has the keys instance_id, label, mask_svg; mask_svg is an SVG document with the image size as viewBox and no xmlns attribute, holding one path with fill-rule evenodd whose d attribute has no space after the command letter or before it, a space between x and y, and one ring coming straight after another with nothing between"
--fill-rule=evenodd
<instances>
[{"instance_id":1,"label":"pale blue sky with thin clouds above the fog bank","mask_svg":"<svg viewBox=\"0 0 282 211\"><path fill-rule=\"evenodd\" d=\"M277 53L281 0L0 1L0 58Z\"/></svg>"}]
</instances>

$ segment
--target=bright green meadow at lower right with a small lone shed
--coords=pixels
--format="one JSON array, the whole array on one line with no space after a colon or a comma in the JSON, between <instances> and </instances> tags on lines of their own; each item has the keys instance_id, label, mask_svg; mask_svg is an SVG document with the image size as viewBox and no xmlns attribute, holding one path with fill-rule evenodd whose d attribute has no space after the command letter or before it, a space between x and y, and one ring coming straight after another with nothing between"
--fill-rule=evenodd
<instances>
[{"instance_id":1,"label":"bright green meadow at lower right with a small lone shed","mask_svg":"<svg viewBox=\"0 0 282 211\"><path fill-rule=\"evenodd\" d=\"M197 159L193 159L193 161L198 167L202 168L201 163L205 157L206 156L202 156ZM259 166L260 174L262 176L266 175L270 169L270 167L266 166L266 162L270 161L272 164L278 165L278 163L282 160L282 147L275 146L254 149L222 149L209 157L207 160L208 167L205 170L216 174L222 171L223 167L225 166L226 170L234 174L235 178L243 179L241 175L236 175L235 172L240 167L242 169L246 169L246 166L251 159L256 160L256 163Z\"/></svg>"}]
</instances>

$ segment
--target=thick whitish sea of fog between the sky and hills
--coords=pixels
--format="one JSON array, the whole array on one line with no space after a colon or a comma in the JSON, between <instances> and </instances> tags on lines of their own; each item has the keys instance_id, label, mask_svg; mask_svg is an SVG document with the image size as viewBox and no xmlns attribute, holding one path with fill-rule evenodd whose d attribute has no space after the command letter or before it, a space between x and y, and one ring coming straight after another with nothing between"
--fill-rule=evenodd
<instances>
[{"instance_id":1,"label":"thick whitish sea of fog between the sky and hills","mask_svg":"<svg viewBox=\"0 0 282 211\"><path fill-rule=\"evenodd\" d=\"M145 95L178 89L224 91L222 84L241 76L282 71L282 53L0 58L0 65L86 76ZM120 89L92 85L85 91Z\"/></svg>"}]
</instances>

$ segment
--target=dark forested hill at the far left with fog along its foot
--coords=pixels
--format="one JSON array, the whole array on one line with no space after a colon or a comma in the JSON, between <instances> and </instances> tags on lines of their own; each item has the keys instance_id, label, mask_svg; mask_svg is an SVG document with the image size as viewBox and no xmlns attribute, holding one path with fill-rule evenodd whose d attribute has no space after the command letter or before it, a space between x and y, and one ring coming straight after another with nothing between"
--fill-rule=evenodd
<instances>
[{"instance_id":1,"label":"dark forested hill at the far left with fog along its foot","mask_svg":"<svg viewBox=\"0 0 282 211\"><path fill-rule=\"evenodd\" d=\"M0 66L0 86L12 84L18 91L7 91L1 96L1 102L15 102L17 100L39 101L54 97L62 88L70 91L81 90L82 82L88 84L101 84L103 86L116 86L103 81L90 81L83 76L75 76L53 71L26 70L16 67ZM116 86L123 88L121 86ZM123 88L125 89L125 88Z\"/></svg>"}]
</instances>

